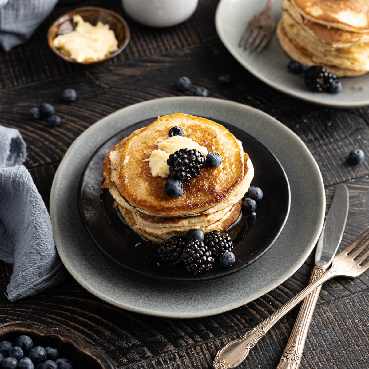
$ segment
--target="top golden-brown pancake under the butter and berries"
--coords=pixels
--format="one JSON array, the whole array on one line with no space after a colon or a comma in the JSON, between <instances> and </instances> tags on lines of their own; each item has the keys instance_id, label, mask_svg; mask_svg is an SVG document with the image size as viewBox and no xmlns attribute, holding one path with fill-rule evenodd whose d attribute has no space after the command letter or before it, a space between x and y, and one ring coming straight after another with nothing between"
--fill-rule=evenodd
<instances>
[{"instance_id":1,"label":"top golden-brown pancake under the butter and berries","mask_svg":"<svg viewBox=\"0 0 369 369\"><path fill-rule=\"evenodd\" d=\"M173 126L181 127L184 137L193 139L209 152L216 151L223 157L218 168L206 165L199 176L184 183L182 196L175 199L164 191L168 179L153 177L149 162L145 161L158 148L157 143L168 138L168 131ZM247 154L244 156L240 141L222 125L188 114L159 117L154 123L134 132L128 140L124 139L115 146L115 150L120 147L120 151L115 151L120 152L119 186L116 183L115 186L129 208L146 214L186 216L213 207L214 211L220 210L223 207L217 204L226 204L228 198L235 196L238 185L245 182L244 177L248 171L246 162L249 159ZM107 180L110 168L107 168L106 163L105 166L103 176ZM249 174L252 179L252 169Z\"/></svg>"}]
</instances>

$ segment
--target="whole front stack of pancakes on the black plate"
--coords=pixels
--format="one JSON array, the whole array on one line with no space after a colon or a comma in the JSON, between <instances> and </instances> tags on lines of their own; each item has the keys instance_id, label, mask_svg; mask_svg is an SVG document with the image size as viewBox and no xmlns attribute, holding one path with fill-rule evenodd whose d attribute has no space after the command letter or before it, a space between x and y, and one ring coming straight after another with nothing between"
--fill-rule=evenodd
<instances>
[{"instance_id":1,"label":"whole front stack of pancakes on the black plate","mask_svg":"<svg viewBox=\"0 0 369 369\"><path fill-rule=\"evenodd\" d=\"M183 183L180 197L169 197L165 182L154 177L145 161L178 126L208 152L218 152L217 168L205 165L200 175ZM125 221L154 242L165 242L193 228L204 233L224 231L241 212L241 199L254 176L254 168L242 143L222 125L188 114L158 117L118 142L104 159L102 188L108 188Z\"/></svg>"}]
</instances>

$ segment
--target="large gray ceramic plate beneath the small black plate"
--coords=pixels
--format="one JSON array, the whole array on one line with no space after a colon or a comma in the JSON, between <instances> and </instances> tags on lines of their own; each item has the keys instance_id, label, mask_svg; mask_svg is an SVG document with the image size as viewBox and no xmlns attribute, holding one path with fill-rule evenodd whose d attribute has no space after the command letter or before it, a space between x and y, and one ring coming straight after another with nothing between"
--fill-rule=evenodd
<instances>
[{"instance_id":1,"label":"large gray ceramic plate beneath the small black plate","mask_svg":"<svg viewBox=\"0 0 369 369\"><path fill-rule=\"evenodd\" d=\"M194 288L196 283L148 279L112 261L90 239L77 207L78 183L97 147L137 121L179 112L218 119L257 138L279 159L291 189L289 218L272 248L238 273L201 282L201 294ZM137 313L168 318L222 313L278 286L310 254L323 227L324 213L325 194L320 170L296 134L254 108L203 97L145 101L118 110L95 123L66 152L55 174L50 199L55 244L72 276L108 303Z\"/></svg>"}]
</instances>

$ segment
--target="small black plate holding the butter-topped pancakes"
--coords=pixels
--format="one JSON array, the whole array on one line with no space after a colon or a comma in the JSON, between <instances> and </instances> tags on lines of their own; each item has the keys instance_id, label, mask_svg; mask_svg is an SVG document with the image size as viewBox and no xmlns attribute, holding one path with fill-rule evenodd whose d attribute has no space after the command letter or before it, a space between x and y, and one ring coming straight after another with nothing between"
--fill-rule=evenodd
<instances>
[{"instance_id":1,"label":"small black plate holding the butter-topped pancakes","mask_svg":"<svg viewBox=\"0 0 369 369\"><path fill-rule=\"evenodd\" d=\"M210 118L211 119L211 118ZM158 246L143 239L126 225L120 213L112 207L113 197L101 190L101 169L107 152L134 130L156 120L146 119L125 128L101 145L92 155L82 173L78 189L78 206L87 231L97 246L111 259L132 272L165 280L209 280L224 277L259 259L278 238L290 210L290 186L280 162L261 142L246 132L216 120L242 141L255 168L252 185L263 190L264 196L256 208L256 216L240 219L228 230L234 242L236 262L222 268L215 261L213 269L193 276L183 267L158 265Z\"/></svg>"}]
</instances>

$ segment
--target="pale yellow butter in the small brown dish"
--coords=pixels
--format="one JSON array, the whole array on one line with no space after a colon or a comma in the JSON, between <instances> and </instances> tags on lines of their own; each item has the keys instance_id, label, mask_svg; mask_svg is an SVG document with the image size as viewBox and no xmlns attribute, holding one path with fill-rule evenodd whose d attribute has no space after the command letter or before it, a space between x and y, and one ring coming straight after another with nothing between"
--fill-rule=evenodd
<instances>
[{"instance_id":1,"label":"pale yellow butter in the small brown dish","mask_svg":"<svg viewBox=\"0 0 369 369\"><path fill-rule=\"evenodd\" d=\"M100 21L93 26L75 15L77 23L74 31L59 35L54 39L56 48L77 62L103 59L118 49L115 33L108 24Z\"/></svg>"}]
</instances>

